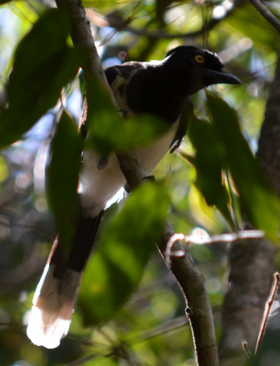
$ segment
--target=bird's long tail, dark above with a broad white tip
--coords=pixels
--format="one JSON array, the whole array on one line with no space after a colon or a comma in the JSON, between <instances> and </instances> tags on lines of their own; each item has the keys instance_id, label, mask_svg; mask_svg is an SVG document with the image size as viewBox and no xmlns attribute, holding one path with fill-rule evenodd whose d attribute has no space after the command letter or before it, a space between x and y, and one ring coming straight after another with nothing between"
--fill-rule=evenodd
<instances>
[{"instance_id":1,"label":"bird's long tail, dark above with a broad white tip","mask_svg":"<svg viewBox=\"0 0 280 366\"><path fill-rule=\"evenodd\" d=\"M55 348L67 335L71 323L81 272L92 250L102 212L79 221L73 249L65 251L56 238L36 288L27 326L27 336L37 346Z\"/></svg>"}]
</instances>

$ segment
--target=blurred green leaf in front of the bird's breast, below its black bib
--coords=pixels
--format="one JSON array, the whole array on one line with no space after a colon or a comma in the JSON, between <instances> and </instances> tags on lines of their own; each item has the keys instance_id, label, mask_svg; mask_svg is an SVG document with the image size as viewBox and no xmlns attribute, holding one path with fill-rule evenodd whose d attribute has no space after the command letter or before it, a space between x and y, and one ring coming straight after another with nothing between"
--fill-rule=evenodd
<instances>
[{"instance_id":1,"label":"blurred green leaf in front of the bird's breast, below its black bib","mask_svg":"<svg viewBox=\"0 0 280 366\"><path fill-rule=\"evenodd\" d=\"M122 119L108 91L94 76L87 76L89 139L87 143L101 154L148 145L163 133L167 124L152 115Z\"/></svg>"}]
</instances>

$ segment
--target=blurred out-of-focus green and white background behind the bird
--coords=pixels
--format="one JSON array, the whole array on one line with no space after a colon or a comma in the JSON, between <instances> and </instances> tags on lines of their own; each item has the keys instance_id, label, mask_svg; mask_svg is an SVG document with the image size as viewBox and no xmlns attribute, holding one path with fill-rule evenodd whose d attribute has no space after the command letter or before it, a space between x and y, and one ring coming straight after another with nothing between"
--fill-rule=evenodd
<instances>
[{"instance_id":1,"label":"blurred out-of-focus green and white background behind the bird","mask_svg":"<svg viewBox=\"0 0 280 366\"><path fill-rule=\"evenodd\" d=\"M280 16L279 1L267 4ZM255 152L275 70L278 38L249 3L85 0L83 5L104 67L122 63L122 51L127 53L126 60L138 61L163 59L171 48L181 44L217 52L225 68L243 84L212 89L237 110L244 135ZM14 0L0 5L2 93L16 45L50 7L55 7L54 1ZM196 113L204 116L204 91L192 100ZM78 78L64 89L60 102L78 123L82 107ZM26 321L33 294L56 235L45 195L45 164L58 108L46 113L20 141L0 154L0 365L195 365L185 300L158 253L150 259L137 292L111 321L95 328L84 327L87 320L78 302L70 334L59 348L46 350L27 339ZM192 153L187 138L181 149ZM168 217L175 232L228 232L221 214L206 204L194 186L195 174L194 167L178 153L168 154L154 173L171 194ZM105 223L118 209L116 205L108 209ZM227 246L190 245L188 250L205 276L219 339Z\"/></svg>"}]
</instances>

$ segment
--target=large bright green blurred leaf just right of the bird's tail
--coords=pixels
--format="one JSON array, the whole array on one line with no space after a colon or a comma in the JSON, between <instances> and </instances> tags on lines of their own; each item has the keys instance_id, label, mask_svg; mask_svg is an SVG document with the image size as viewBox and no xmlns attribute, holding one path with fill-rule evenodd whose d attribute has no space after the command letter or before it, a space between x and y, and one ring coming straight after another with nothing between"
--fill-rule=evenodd
<instances>
[{"instance_id":1,"label":"large bright green blurred leaf just right of the bird's tail","mask_svg":"<svg viewBox=\"0 0 280 366\"><path fill-rule=\"evenodd\" d=\"M108 320L135 291L164 227L169 197L158 183L133 191L87 265L80 304L85 323Z\"/></svg>"}]
</instances>

